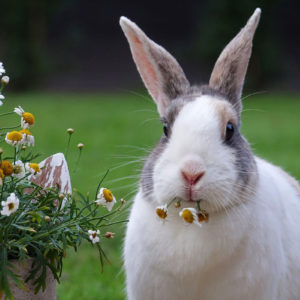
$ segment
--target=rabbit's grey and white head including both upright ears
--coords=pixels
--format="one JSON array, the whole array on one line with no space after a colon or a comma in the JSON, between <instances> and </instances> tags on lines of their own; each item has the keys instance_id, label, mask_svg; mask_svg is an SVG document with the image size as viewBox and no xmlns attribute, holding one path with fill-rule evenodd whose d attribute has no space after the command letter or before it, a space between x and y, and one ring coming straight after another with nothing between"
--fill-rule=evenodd
<instances>
[{"instance_id":1,"label":"rabbit's grey and white head including both upright ears","mask_svg":"<svg viewBox=\"0 0 300 300\"><path fill-rule=\"evenodd\" d=\"M156 204L174 198L217 211L252 193L256 165L240 133L241 94L260 17L256 9L225 47L209 84L190 86L177 61L136 24L121 17L137 69L163 124L160 142L141 179L144 196Z\"/></svg>"}]
</instances>

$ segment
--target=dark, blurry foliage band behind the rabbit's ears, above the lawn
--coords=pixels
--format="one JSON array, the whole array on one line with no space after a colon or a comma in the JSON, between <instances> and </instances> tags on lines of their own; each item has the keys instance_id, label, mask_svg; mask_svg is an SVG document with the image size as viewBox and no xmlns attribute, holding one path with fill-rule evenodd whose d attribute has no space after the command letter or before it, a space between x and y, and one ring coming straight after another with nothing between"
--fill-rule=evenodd
<instances>
[{"instance_id":1,"label":"dark, blurry foliage band behind the rabbit's ears, above the lawn","mask_svg":"<svg viewBox=\"0 0 300 300\"><path fill-rule=\"evenodd\" d=\"M141 85L118 24L125 15L207 82L222 48L256 7L262 19L246 87L298 90L297 1L0 1L0 60L10 89L123 90Z\"/></svg>"}]
</instances>

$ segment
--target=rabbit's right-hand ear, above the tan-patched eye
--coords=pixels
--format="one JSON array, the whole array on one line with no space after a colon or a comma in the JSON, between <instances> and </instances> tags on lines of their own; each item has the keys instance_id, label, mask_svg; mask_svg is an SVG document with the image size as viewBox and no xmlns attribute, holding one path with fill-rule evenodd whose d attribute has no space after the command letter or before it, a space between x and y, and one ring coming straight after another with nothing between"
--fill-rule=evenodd
<instances>
[{"instance_id":1,"label":"rabbit's right-hand ear, above the tan-patched eye","mask_svg":"<svg viewBox=\"0 0 300 300\"><path fill-rule=\"evenodd\" d=\"M246 26L225 47L212 71L209 85L223 93L238 114L242 110L241 94L251 55L252 40L261 10L257 8Z\"/></svg>"}]
</instances>

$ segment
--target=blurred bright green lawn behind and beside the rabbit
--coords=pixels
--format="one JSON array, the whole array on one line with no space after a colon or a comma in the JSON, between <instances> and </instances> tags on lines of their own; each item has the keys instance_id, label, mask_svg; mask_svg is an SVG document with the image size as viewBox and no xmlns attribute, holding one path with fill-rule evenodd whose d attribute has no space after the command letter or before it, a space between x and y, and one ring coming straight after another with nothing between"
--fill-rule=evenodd
<instances>
[{"instance_id":1,"label":"blurred bright green lawn behind and beside the rabbit","mask_svg":"<svg viewBox=\"0 0 300 300\"><path fill-rule=\"evenodd\" d=\"M139 174L140 157L146 155L161 134L156 108L148 96L129 93L6 96L3 111L21 105L35 114L32 132L36 148L43 153L41 158L64 151L66 129L75 129L68 157L71 170L78 155L77 143L84 143L85 148L80 168L72 172L73 187L93 195L98 180L111 169L104 186L111 188L118 199L129 200L134 195L138 177L133 175ZM242 127L256 154L297 178L300 178L299 109L298 96L252 96L244 101ZM0 126L14 125L18 120L14 115L2 117ZM136 162L128 164L130 161ZM90 245L83 245L78 253L67 253L62 284L58 286L59 299L124 299L121 257L124 230L113 228L112 231L117 233L115 239L103 240L112 262L105 266L103 274L96 249Z\"/></svg>"}]
</instances>

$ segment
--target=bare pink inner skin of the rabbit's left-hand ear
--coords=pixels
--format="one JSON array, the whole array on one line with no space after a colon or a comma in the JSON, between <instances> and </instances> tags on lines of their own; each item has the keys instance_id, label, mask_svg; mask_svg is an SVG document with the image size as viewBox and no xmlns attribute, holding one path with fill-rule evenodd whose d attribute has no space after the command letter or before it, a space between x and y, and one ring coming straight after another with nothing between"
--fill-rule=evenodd
<instances>
[{"instance_id":1,"label":"bare pink inner skin of the rabbit's left-hand ear","mask_svg":"<svg viewBox=\"0 0 300 300\"><path fill-rule=\"evenodd\" d=\"M158 102L158 79L156 71L151 63L150 58L145 50L145 45L142 41L134 34L130 34L130 39L132 41L132 55L134 61L138 67L138 70L142 76L142 79L152 95L154 101Z\"/></svg>"}]
</instances>

